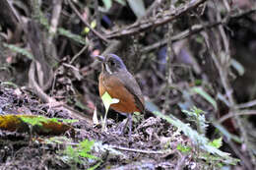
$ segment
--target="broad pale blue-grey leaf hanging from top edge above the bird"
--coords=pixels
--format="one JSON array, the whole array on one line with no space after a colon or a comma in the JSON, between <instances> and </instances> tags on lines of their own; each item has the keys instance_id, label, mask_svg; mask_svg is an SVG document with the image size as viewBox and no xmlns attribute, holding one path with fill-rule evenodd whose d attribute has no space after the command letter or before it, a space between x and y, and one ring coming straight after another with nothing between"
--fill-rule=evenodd
<instances>
[{"instance_id":1,"label":"broad pale blue-grey leaf hanging from top edge above the bird","mask_svg":"<svg viewBox=\"0 0 256 170\"><path fill-rule=\"evenodd\" d=\"M137 18L145 16L146 9L143 0L127 0L127 2Z\"/></svg>"}]
</instances>

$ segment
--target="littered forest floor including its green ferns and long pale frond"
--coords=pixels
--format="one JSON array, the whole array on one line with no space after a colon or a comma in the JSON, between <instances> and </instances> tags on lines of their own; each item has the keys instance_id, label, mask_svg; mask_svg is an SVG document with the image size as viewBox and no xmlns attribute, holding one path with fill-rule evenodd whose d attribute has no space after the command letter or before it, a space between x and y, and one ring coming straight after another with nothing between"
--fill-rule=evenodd
<instances>
[{"instance_id":1,"label":"littered forest floor including its green ferns and long pale frond","mask_svg":"<svg viewBox=\"0 0 256 170\"><path fill-rule=\"evenodd\" d=\"M30 112L34 117L43 113L53 120L72 119L64 111L40 104L25 90L2 87L0 105L2 115ZM100 124L71 122L73 129L59 136L0 131L0 169L220 169L238 162L220 149L221 138L211 142L204 136L208 125L203 111L184 112L190 121L198 122L197 131L160 112L147 119L135 115L131 141L127 134L119 135L125 120L107 119L107 130ZM46 118L39 119L40 123ZM38 120L26 122L38 124Z\"/></svg>"}]
</instances>

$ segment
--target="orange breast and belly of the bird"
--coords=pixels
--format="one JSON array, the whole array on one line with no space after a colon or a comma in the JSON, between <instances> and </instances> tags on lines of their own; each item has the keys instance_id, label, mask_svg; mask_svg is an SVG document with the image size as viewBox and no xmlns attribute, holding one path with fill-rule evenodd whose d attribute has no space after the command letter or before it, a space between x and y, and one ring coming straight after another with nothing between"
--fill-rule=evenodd
<instances>
[{"instance_id":1,"label":"orange breast and belly of the bird","mask_svg":"<svg viewBox=\"0 0 256 170\"><path fill-rule=\"evenodd\" d=\"M105 91L112 97L119 99L118 103L111 104L110 107L115 111L122 113L142 112L136 105L134 95L121 83L114 75L105 77L103 73L98 78L99 95L102 96ZM144 102L144 101L143 101Z\"/></svg>"}]
</instances>

